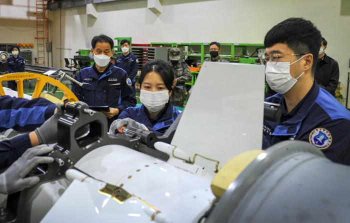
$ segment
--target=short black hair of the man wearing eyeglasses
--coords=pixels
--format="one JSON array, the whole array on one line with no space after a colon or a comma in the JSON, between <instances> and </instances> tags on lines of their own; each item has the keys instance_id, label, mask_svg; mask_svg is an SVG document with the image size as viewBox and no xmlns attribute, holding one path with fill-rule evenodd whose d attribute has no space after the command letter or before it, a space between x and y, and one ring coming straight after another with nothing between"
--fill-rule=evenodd
<instances>
[{"instance_id":1,"label":"short black hair of the man wearing eyeglasses","mask_svg":"<svg viewBox=\"0 0 350 223\"><path fill-rule=\"evenodd\" d=\"M266 33L263 43L265 47L271 47L276 43L285 43L296 54L312 53L311 72L314 73L321 45L321 32L310 20L287 18Z\"/></svg>"}]
</instances>

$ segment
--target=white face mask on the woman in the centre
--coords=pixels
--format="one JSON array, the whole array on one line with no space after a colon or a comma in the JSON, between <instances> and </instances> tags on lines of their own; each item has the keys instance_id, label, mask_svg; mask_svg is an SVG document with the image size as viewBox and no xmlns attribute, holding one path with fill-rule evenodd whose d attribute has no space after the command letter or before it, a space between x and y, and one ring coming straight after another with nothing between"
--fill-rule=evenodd
<instances>
[{"instance_id":1,"label":"white face mask on the woman in the centre","mask_svg":"<svg viewBox=\"0 0 350 223\"><path fill-rule=\"evenodd\" d=\"M169 91L140 91L140 101L151 112L162 109L169 100Z\"/></svg>"}]
</instances>

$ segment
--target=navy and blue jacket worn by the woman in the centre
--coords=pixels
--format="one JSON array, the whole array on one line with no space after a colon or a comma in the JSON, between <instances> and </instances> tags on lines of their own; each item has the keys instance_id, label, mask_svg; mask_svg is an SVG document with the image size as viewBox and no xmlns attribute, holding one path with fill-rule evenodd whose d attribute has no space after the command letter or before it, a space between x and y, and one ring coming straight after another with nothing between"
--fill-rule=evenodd
<instances>
[{"instance_id":1,"label":"navy and blue jacket worn by the woman in the centre","mask_svg":"<svg viewBox=\"0 0 350 223\"><path fill-rule=\"evenodd\" d=\"M141 104L136 107L128 107L119 115L118 119L129 117L141 124L144 124L150 131L156 135L162 135L170 127L172 122L179 115L176 107L169 101L165 107L157 114L154 119L149 117L146 107Z\"/></svg>"}]
</instances>

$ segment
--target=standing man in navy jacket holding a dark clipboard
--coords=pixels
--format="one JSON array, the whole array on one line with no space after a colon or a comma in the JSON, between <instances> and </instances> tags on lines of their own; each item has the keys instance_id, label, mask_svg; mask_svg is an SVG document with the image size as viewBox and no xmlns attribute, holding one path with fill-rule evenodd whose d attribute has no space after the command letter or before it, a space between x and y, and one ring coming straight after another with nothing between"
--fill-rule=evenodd
<instances>
[{"instance_id":1,"label":"standing man in navy jacket holding a dark clipboard","mask_svg":"<svg viewBox=\"0 0 350 223\"><path fill-rule=\"evenodd\" d=\"M127 73L110 63L113 40L100 34L92 38L91 45L95 63L80 70L76 80L83 85L80 87L73 83L71 89L79 100L89 106L108 106L109 111L103 113L109 125L126 107L135 106L136 97Z\"/></svg>"}]
</instances>

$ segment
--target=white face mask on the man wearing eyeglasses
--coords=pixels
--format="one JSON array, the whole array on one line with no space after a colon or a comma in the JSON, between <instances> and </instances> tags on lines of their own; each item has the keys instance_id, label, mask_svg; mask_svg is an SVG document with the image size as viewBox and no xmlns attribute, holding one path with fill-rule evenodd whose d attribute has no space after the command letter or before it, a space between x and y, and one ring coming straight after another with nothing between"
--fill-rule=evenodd
<instances>
[{"instance_id":1,"label":"white face mask on the man wearing eyeglasses","mask_svg":"<svg viewBox=\"0 0 350 223\"><path fill-rule=\"evenodd\" d=\"M298 60L292 63L277 62L276 64L274 64L275 62L267 62L265 69L266 82L272 90L276 91L277 93L283 94L290 90L292 86L294 86L297 79L302 74L304 74L304 72L302 72L298 77L294 78L290 75L290 65L296 63L304 56L300 57Z\"/></svg>"}]
</instances>

